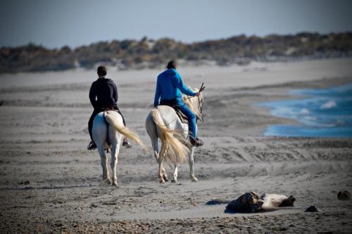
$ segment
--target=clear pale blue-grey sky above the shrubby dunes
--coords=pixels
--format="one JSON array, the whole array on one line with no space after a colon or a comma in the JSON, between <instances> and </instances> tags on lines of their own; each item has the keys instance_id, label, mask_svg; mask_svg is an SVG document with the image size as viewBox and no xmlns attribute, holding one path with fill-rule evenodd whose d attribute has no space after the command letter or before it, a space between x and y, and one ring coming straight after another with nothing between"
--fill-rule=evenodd
<instances>
[{"instance_id":1,"label":"clear pale blue-grey sky above the shrubby dunes","mask_svg":"<svg viewBox=\"0 0 352 234\"><path fill-rule=\"evenodd\" d=\"M352 32L350 0L0 0L0 46Z\"/></svg>"}]
</instances>

